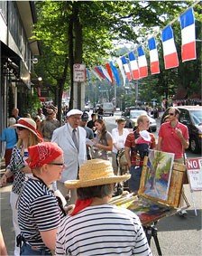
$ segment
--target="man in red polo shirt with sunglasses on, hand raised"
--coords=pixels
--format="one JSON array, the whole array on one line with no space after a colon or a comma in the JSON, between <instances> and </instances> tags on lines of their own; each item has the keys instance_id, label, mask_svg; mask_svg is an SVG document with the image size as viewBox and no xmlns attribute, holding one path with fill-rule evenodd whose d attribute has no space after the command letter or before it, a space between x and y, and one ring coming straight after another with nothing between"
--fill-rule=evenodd
<instances>
[{"instance_id":1,"label":"man in red polo shirt with sunglasses on, hand raised","mask_svg":"<svg viewBox=\"0 0 202 256\"><path fill-rule=\"evenodd\" d=\"M187 126L179 123L179 114L178 108L169 109L170 122L161 124L157 150L175 154L174 162L184 165L184 152L189 146L189 137ZM179 207L184 204L183 196L181 196ZM187 211L182 210L179 214L185 215Z\"/></svg>"}]
</instances>

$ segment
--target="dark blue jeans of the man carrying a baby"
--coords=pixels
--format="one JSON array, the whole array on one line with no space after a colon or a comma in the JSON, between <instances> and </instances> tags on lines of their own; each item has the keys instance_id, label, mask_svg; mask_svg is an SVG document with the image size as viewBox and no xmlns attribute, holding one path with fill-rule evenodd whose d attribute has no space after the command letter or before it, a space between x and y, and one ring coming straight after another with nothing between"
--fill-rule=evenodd
<instances>
[{"instance_id":1,"label":"dark blue jeans of the man carrying a baby","mask_svg":"<svg viewBox=\"0 0 202 256\"><path fill-rule=\"evenodd\" d=\"M141 184L142 166L131 166L129 169L131 178L128 180L130 191L139 190Z\"/></svg>"}]
</instances>

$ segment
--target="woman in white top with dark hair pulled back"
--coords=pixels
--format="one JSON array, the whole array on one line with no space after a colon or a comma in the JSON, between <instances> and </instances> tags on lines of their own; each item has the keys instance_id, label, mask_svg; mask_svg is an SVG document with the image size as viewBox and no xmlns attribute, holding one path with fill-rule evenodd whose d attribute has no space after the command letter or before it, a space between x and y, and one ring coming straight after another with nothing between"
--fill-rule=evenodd
<instances>
[{"instance_id":1,"label":"woman in white top with dark hair pulled back","mask_svg":"<svg viewBox=\"0 0 202 256\"><path fill-rule=\"evenodd\" d=\"M117 123L117 128L112 130L112 137L113 137L113 150L112 150L112 165L114 169L115 175L118 174L118 165L117 165L117 153L118 151L124 149L124 142L129 134L129 131L124 128L125 126L125 119L116 119L115 122Z\"/></svg>"}]
</instances>

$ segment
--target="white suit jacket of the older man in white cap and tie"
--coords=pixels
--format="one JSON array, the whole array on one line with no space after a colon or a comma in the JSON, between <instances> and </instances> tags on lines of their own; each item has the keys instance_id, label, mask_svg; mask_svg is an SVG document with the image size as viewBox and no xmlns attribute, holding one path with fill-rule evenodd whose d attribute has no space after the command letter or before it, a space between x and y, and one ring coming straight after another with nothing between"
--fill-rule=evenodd
<instances>
[{"instance_id":1,"label":"white suit jacket of the older man in white cap and tie","mask_svg":"<svg viewBox=\"0 0 202 256\"><path fill-rule=\"evenodd\" d=\"M86 130L78 127L78 149L75 147L68 125L54 130L51 141L56 142L64 151L65 169L62 172L60 182L75 180L78 178L78 167L87 161Z\"/></svg>"}]
</instances>

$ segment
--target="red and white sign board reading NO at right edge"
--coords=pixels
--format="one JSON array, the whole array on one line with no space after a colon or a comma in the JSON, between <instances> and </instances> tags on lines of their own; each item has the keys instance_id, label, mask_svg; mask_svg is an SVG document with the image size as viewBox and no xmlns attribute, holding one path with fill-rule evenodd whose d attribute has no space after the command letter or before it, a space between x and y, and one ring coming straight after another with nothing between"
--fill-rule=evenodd
<instances>
[{"instance_id":1,"label":"red and white sign board reading NO at right edge","mask_svg":"<svg viewBox=\"0 0 202 256\"><path fill-rule=\"evenodd\" d=\"M190 189L192 191L202 190L202 158L188 158L186 166Z\"/></svg>"}]
</instances>

